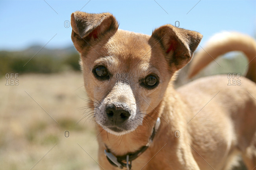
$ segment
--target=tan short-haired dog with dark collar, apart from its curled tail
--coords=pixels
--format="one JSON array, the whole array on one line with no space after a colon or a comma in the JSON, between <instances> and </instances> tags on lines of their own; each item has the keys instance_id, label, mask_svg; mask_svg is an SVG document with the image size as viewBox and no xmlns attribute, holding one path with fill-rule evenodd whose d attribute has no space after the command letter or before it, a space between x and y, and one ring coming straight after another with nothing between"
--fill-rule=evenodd
<instances>
[{"instance_id":1,"label":"tan short-haired dog with dark collar, apart from its curled tail","mask_svg":"<svg viewBox=\"0 0 256 170\"><path fill-rule=\"evenodd\" d=\"M71 26L99 125L101 169L130 169L132 161L133 170L227 170L239 153L249 170L255 168L254 82L237 76L232 80L241 85L228 86L228 77L217 75L173 88L200 33L171 25L151 36L133 33L118 29L109 13L72 13ZM256 56L255 41L246 46Z\"/></svg>"}]
</instances>

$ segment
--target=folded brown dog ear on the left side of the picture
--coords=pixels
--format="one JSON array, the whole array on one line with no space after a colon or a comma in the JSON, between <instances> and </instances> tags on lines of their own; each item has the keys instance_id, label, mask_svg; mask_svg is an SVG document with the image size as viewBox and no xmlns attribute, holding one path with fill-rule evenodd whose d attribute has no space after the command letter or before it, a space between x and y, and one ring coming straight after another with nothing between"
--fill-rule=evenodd
<instances>
[{"instance_id":1,"label":"folded brown dog ear on the left side of the picture","mask_svg":"<svg viewBox=\"0 0 256 170\"><path fill-rule=\"evenodd\" d=\"M71 39L78 52L98 42L102 36L113 34L118 29L117 20L110 13L90 14L74 12L71 14Z\"/></svg>"}]
</instances>

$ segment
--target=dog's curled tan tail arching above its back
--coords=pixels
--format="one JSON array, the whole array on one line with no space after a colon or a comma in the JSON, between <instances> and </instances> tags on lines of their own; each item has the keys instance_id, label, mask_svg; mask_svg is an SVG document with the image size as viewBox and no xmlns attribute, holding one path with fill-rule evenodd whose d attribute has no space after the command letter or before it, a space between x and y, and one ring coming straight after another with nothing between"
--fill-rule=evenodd
<instances>
[{"instance_id":1,"label":"dog's curled tan tail arching above its back","mask_svg":"<svg viewBox=\"0 0 256 170\"><path fill-rule=\"evenodd\" d=\"M207 42L206 47L195 54L191 61L188 77L195 76L213 58L230 51L242 51L247 56L249 69L246 77L256 82L256 42L248 35L236 32L223 32L214 35Z\"/></svg>"}]
</instances>

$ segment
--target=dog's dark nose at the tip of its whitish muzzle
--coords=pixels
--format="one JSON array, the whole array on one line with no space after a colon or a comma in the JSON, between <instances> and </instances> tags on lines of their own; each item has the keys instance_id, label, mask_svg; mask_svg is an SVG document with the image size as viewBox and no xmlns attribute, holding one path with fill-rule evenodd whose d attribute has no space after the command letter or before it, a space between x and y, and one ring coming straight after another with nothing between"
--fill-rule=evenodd
<instances>
[{"instance_id":1,"label":"dog's dark nose at the tip of its whitish muzzle","mask_svg":"<svg viewBox=\"0 0 256 170\"><path fill-rule=\"evenodd\" d=\"M108 119L113 123L113 125L120 125L130 117L127 106L122 104L110 104L106 106L106 113Z\"/></svg>"}]
</instances>

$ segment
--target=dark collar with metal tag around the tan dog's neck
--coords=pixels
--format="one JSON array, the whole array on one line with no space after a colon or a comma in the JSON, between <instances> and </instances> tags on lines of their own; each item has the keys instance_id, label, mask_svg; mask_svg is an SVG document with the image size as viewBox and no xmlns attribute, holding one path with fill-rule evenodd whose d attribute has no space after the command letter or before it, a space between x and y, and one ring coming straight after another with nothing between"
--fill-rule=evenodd
<instances>
[{"instance_id":1,"label":"dark collar with metal tag around the tan dog's neck","mask_svg":"<svg viewBox=\"0 0 256 170\"><path fill-rule=\"evenodd\" d=\"M126 167L128 170L130 170L132 168L132 161L134 159L136 159L139 155L141 155L143 152L145 152L145 150L147 150L147 148L150 146L150 144L152 143L156 132L158 131L158 128L160 126L160 117L158 117L156 124L152 130L152 134L148 140L147 145L142 146L139 150L137 150L136 152L129 152L126 155L122 155L122 156L115 156L113 155L110 150L108 149L108 147L105 145L106 150L104 150L104 153L109 161L109 163L111 163L111 165L119 167L120 169L122 169L123 167ZM126 161L126 163L124 163L124 161ZM130 164L129 164L130 161Z\"/></svg>"}]
</instances>

